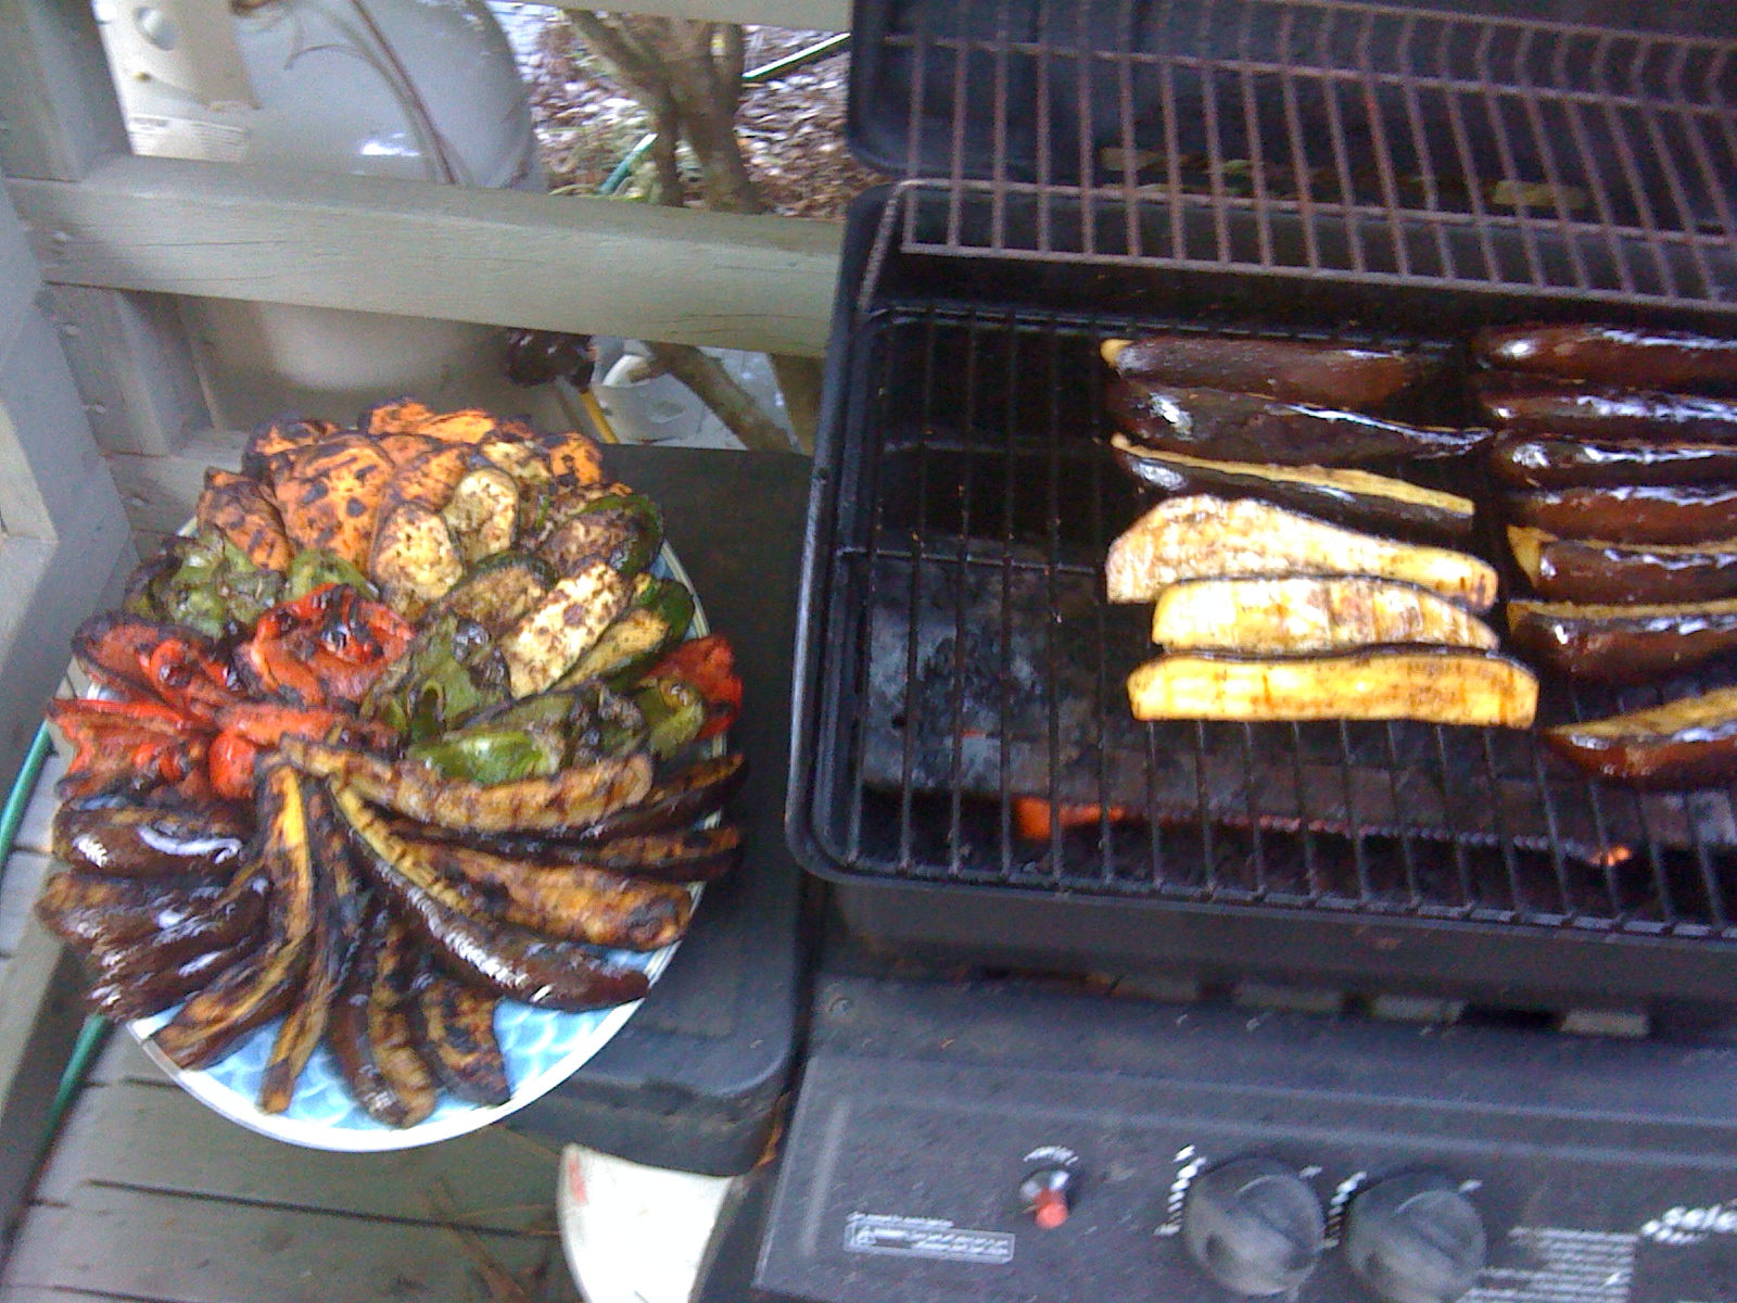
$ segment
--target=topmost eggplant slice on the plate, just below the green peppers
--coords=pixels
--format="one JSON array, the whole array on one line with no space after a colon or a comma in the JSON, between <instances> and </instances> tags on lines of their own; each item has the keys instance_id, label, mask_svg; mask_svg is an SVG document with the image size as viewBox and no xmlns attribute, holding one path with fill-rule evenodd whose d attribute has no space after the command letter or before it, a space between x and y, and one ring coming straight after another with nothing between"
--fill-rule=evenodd
<instances>
[{"instance_id":1,"label":"topmost eggplant slice on the plate, just below the green peppers","mask_svg":"<svg viewBox=\"0 0 1737 1303\"><path fill-rule=\"evenodd\" d=\"M285 737L280 754L318 778L335 778L368 801L419 823L478 832L552 832L596 823L651 790L643 756L575 764L552 778L481 785L441 778L413 761L387 764L360 751Z\"/></svg>"}]
</instances>

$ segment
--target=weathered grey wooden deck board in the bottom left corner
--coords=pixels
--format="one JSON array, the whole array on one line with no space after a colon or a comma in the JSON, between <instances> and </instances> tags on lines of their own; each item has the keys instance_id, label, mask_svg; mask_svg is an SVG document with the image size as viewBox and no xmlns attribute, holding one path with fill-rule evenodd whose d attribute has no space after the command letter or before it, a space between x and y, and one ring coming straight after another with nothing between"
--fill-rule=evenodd
<instances>
[{"instance_id":1,"label":"weathered grey wooden deck board in the bottom left corner","mask_svg":"<svg viewBox=\"0 0 1737 1303\"><path fill-rule=\"evenodd\" d=\"M533 1298L577 1300L551 1237L485 1234L511 1272L542 1268ZM445 1227L85 1185L38 1204L7 1267L12 1287L69 1287L167 1303L485 1303L481 1272Z\"/></svg>"}]
</instances>

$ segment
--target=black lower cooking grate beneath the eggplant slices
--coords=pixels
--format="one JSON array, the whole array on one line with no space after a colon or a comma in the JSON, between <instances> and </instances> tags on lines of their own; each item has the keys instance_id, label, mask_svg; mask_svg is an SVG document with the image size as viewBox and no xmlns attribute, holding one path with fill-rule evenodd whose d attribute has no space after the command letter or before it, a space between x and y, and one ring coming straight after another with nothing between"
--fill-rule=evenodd
<instances>
[{"instance_id":1,"label":"black lower cooking grate beneath the eggplant slices","mask_svg":"<svg viewBox=\"0 0 1737 1303\"><path fill-rule=\"evenodd\" d=\"M1732 792L1598 787L1506 730L1129 718L1150 610L1106 605L1100 568L1141 506L1106 453L1096 344L1131 328L936 302L860 323L860 457L839 483L818 679L813 815L832 860L912 883L1737 940ZM1548 688L1542 719L1657 700ZM1020 797L1096 811L1030 837Z\"/></svg>"}]
</instances>

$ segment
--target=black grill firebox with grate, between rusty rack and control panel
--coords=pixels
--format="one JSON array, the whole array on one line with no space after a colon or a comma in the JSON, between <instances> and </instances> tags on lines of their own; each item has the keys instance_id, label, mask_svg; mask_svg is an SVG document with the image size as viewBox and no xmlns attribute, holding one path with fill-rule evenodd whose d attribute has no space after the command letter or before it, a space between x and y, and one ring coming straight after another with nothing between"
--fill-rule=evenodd
<instances>
[{"instance_id":1,"label":"black grill firebox with grate, between rusty rack and control panel","mask_svg":"<svg viewBox=\"0 0 1737 1303\"><path fill-rule=\"evenodd\" d=\"M1075 971L1737 1001L1730 792L1602 787L1516 731L1127 716L1148 612L1103 599L1101 559L1141 502L1106 448L1100 339L1398 339L1454 377L1466 330L1548 304L905 252L884 236L912 203L882 191L851 214L797 653L787 827L855 929ZM1449 379L1409 413L1461 420L1463 401ZM1407 474L1480 500L1476 549L1501 561L1482 471ZM1699 686L1728 681L1714 667ZM1541 719L1659 691L1546 683ZM1034 839L1021 797L1096 815Z\"/></svg>"}]
</instances>

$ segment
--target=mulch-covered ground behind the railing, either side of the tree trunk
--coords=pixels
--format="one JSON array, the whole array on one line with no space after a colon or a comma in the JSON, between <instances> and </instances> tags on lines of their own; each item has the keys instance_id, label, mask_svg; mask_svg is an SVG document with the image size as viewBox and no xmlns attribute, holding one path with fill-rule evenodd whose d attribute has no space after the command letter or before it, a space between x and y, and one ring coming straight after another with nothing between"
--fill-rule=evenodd
<instances>
[{"instance_id":1,"label":"mulch-covered ground behind the railing, either side of the tree trunk","mask_svg":"<svg viewBox=\"0 0 1737 1303\"><path fill-rule=\"evenodd\" d=\"M750 71L827 36L789 28L745 31ZM521 64L551 188L596 193L646 134L646 113L552 10ZM754 181L778 214L842 217L846 205L881 179L844 144L848 69L849 54L835 54L743 94L736 134ZM650 182L651 163L643 158L618 193L644 198Z\"/></svg>"}]
</instances>

